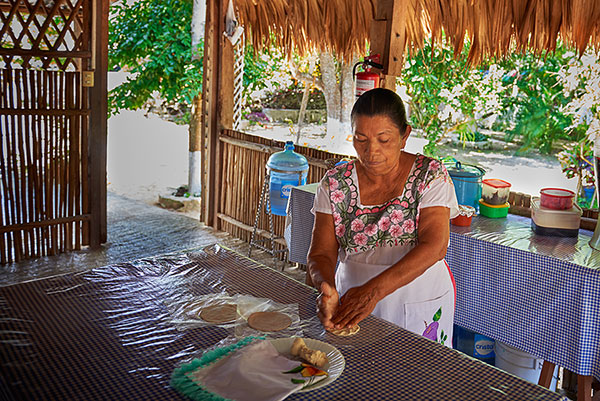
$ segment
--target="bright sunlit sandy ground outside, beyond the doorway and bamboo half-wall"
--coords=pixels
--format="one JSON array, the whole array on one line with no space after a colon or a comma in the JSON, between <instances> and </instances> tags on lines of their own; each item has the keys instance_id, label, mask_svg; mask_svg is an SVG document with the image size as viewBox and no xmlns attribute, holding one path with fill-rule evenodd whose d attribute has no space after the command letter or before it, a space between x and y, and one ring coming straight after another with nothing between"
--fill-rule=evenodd
<instances>
[{"instance_id":1,"label":"bright sunlit sandy ground outside, beyond the doorway and bamboo half-wall","mask_svg":"<svg viewBox=\"0 0 600 401\"><path fill-rule=\"evenodd\" d=\"M109 74L111 87L123 75ZM269 124L248 127L248 133L281 141L295 140L287 126ZM347 136L346 136L347 137ZM300 144L328 149L330 139L323 126L308 126ZM411 140L408 147L416 152L423 140ZM329 149L353 154L349 141L336 141ZM532 154L513 156L510 152L491 152L444 145L441 154L453 156L465 163L475 163L486 170L485 178L501 178L512 184L514 191L537 194L544 187L575 189L575 180L567 180L554 156ZM158 195L174 191L187 183L187 126L164 121L157 116L146 117L143 111L122 111L108 121L108 188L119 195L154 204Z\"/></svg>"}]
</instances>

